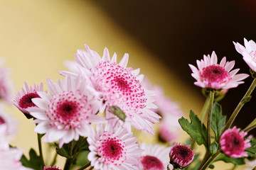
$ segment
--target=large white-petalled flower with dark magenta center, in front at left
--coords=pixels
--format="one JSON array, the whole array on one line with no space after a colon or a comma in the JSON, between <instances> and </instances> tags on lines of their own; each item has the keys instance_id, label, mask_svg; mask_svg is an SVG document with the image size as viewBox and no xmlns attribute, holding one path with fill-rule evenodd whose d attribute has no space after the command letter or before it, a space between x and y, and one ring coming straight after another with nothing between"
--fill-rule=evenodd
<instances>
[{"instance_id":1,"label":"large white-petalled flower with dark magenta center, in front at left","mask_svg":"<svg viewBox=\"0 0 256 170\"><path fill-rule=\"evenodd\" d=\"M38 108L28 108L36 118L33 123L38 123L34 131L46 134L43 142L59 140L62 147L64 143L78 140L79 136L89 135L90 123L105 121L95 115L99 106L92 98L85 79L65 77L58 84L48 79L47 86L50 94L38 91L41 98L32 99Z\"/></svg>"}]
</instances>

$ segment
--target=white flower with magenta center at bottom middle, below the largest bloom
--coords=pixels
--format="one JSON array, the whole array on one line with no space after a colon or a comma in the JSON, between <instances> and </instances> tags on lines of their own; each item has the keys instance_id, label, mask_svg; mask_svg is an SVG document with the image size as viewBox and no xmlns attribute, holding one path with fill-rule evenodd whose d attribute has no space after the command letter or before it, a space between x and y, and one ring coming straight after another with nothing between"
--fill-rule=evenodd
<instances>
[{"instance_id":1,"label":"white flower with magenta center at bottom middle, below the largest bloom","mask_svg":"<svg viewBox=\"0 0 256 170\"><path fill-rule=\"evenodd\" d=\"M87 137L91 166L101 170L137 169L138 159L142 153L136 144L137 137L127 132L122 126L113 128L114 123L96 125L96 132Z\"/></svg>"}]
</instances>

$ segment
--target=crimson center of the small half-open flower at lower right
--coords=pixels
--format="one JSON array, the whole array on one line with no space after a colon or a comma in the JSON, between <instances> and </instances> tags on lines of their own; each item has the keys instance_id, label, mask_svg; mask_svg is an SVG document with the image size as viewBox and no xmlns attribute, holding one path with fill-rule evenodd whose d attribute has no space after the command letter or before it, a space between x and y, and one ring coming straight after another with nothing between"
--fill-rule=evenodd
<instances>
[{"instance_id":1,"label":"crimson center of the small half-open flower at lower right","mask_svg":"<svg viewBox=\"0 0 256 170\"><path fill-rule=\"evenodd\" d=\"M244 152L245 142L238 132L229 132L222 140L225 140L225 150L230 154Z\"/></svg>"}]
</instances>

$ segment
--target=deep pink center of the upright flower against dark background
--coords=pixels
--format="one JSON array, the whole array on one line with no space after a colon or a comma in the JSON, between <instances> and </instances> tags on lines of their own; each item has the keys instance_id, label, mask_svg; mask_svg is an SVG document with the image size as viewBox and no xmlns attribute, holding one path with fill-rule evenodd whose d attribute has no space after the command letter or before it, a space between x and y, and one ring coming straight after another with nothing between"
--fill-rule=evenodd
<instances>
[{"instance_id":1,"label":"deep pink center of the upright flower against dark background","mask_svg":"<svg viewBox=\"0 0 256 170\"><path fill-rule=\"evenodd\" d=\"M230 74L218 64L203 68L200 75L201 79L206 80L209 83L225 83L230 80Z\"/></svg>"}]
</instances>

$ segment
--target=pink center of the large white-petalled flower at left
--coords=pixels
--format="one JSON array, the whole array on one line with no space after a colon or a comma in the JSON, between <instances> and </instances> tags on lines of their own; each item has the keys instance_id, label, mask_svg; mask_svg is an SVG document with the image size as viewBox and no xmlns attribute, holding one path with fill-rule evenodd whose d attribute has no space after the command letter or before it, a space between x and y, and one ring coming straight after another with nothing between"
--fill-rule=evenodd
<instances>
[{"instance_id":1,"label":"pink center of the large white-petalled flower at left","mask_svg":"<svg viewBox=\"0 0 256 170\"><path fill-rule=\"evenodd\" d=\"M80 121L93 114L91 107L87 103L87 96L80 94L80 91L64 91L63 94L53 96L46 113L50 120L76 128L80 126Z\"/></svg>"}]
</instances>

